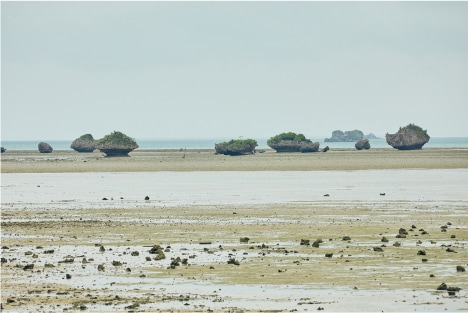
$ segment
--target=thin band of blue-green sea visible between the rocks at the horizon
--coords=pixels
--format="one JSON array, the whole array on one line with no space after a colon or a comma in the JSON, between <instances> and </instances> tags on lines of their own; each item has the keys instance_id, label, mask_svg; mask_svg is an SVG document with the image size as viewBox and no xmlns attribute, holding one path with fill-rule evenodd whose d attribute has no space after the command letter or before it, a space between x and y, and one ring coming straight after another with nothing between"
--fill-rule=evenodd
<instances>
[{"instance_id":1,"label":"thin band of blue-green sea visible between the rocks at the horizon","mask_svg":"<svg viewBox=\"0 0 468 313\"><path fill-rule=\"evenodd\" d=\"M211 138L211 139L136 139L139 149L214 149L216 143L229 141L232 138ZM267 138L256 139L257 149L268 149ZM324 138L310 138L312 141L320 142L320 147L329 146L330 149L354 149L354 142L324 142ZM47 141L54 150L71 150L70 145L73 140L50 140ZM372 148L389 148L385 138L370 139ZM1 146L7 150L37 150L39 141L2 141ZM431 138L423 148L468 148L468 137L439 137Z\"/></svg>"}]
</instances>

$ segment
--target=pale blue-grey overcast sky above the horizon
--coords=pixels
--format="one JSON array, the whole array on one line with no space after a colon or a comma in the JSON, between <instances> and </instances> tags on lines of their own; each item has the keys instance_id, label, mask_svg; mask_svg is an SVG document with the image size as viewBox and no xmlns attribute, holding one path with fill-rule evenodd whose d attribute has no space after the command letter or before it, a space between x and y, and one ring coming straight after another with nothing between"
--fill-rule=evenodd
<instances>
[{"instance_id":1,"label":"pale blue-grey overcast sky above the horizon","mask_svg":"<svg viewBox=\"0 0 468 313\"><path fill-rule=\"evenodd\" d=\"M1 1L1 139L468 136L468 2Z\"/></svg>"}]
</instances>

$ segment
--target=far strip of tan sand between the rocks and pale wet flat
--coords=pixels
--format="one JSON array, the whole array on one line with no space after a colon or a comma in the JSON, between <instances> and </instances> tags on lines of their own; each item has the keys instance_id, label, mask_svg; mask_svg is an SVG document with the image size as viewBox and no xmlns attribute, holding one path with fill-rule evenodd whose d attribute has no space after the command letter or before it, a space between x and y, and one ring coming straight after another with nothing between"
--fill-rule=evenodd
<instances>
[{"instance_id":1,"label":"far strip of tan sand between the rocks and pale wet flat","mask_svg":"<svg viewBox=\"0 0 468 313\"><path fill-rule=\"evenodd\" d=\"M2 173L158 172L158 171L318 171L366 169L468 168L468 149L431 148L335 149L314 153L263 153L243 156L215 154L213 149L135 150L129 157L103 153L7 151L1 155Z\"/></svg>"}]
</instances>

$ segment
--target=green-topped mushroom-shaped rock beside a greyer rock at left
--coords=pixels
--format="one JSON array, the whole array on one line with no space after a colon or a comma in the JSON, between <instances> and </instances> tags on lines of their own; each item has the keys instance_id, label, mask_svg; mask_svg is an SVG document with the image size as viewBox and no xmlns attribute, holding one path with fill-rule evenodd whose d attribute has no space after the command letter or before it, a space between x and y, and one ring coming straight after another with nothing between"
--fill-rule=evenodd
<instances>
[{"instance_id":1,"label":"green-topped mushroom-shaped rock beside a greyer rock at left","mask_svg":"<svg viewBox=\"0 0 468 313\"><path fill-rule=\"evenodd\" d=\"M128 153L138 148L133 138L124 133L114 131L96 142L96 149L104 152L106 156L128 156Z\"/></svg>"}]
</instances>

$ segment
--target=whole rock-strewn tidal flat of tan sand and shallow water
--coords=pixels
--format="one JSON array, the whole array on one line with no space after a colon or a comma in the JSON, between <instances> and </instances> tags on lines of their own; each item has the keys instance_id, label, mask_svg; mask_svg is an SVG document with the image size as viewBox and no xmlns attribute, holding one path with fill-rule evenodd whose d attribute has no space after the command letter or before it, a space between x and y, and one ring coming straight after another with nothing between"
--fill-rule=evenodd
<instances>
[{"instance_id":1,"label":"whole rock-strewn tidal flat of tan sand and shallow water","mask_svg":"<svg viewBox=\"0 0 468 313\"><path fill-rule=\"evenodd\" d=\"M130 155L2 154L5 312L468 309L466 149Z\"/></svg>"}]
</instances>

